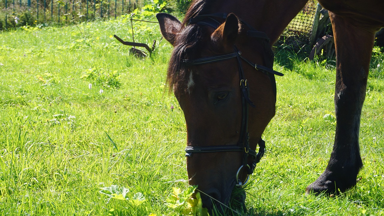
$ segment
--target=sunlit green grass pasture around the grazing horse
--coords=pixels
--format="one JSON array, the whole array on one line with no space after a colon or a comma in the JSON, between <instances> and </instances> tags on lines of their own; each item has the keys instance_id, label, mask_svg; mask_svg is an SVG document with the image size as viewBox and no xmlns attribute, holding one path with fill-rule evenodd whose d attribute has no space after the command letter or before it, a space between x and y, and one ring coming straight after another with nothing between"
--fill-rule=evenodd
<instances>
[{"instance_id":1,"label":"sunlit green grass pasture around the grazing horse","mask_svg":"<svg viewBox=\"0 0 384 216\"><path fill-rule=\"evenodd\" d=\"M156 23L135 41L160 40ZM165 85L171 45L138 60L122 17L0 33L0 215L180 215L165 205L187 188L185 121ZM245 188L243 215L384 214L384 54L375 50L363 106L358 184L305 196L334 139L334 61L276 48L276 115L266 153ZM126 200L100 188L129 189ZM145 200L135 201L141 193Z\"/></svg>"}]
</instances>

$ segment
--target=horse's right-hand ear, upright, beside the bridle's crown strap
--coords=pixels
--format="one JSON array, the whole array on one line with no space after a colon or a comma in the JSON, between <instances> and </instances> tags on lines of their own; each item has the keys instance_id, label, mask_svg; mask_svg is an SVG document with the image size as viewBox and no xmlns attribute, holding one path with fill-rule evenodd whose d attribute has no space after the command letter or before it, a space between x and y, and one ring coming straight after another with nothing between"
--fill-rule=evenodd
<instances>
[{"instance_id":1,"label":"horse's right-hand ear, upright, beside the bridle's crown strap","mask_svg":"<svg viewBox=\"0 0 384 216\"><path fill-rule=\"evenodd\" d=\"M235 43L239 32L239 20L235 14L228 14L225 22L218 27L212 37L219 38L223 44L232 45Z\"/></svg>"}]
</instances>

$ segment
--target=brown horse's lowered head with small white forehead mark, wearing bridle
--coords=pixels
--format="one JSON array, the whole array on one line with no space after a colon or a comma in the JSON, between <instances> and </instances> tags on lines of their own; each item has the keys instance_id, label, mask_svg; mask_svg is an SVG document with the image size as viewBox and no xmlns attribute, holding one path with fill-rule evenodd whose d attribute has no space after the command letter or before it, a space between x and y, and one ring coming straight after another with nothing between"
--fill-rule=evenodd
<instances>
[{"instance_id":1,"label":"brown horse's lowered head with small white forehead mark, wearing bridle","mask_svg":"<svg viewBox=\"0 0 384 216\"><path fill-rule=\"evenodd\" d=\"M184 112L189 184L198 185L208 208L227 204L235 185L252 173L276 103L268 38L250 37L257 31L233 13L219 16L184 25L157 14L163 37L174 46L167 83Z\"/></svg>"}]
</instances>

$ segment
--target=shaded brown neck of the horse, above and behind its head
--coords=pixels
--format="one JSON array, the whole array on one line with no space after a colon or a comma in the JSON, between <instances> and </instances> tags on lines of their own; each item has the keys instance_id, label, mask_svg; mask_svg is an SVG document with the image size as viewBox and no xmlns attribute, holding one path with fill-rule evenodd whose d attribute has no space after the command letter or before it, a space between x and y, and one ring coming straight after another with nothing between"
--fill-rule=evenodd
<instances>
[{"instance_id":1,"label":"shaded brown neck of the horse, above and behind its head","mask_svg":"<svg viewBox=\"0 0 384 216\"><path fill-rule=\"evenodd\" d=\"M235 13L258 31L265 32L272 45L306 2L308 0L213 0L210 13Z\"/></svg>"}]
</instances>

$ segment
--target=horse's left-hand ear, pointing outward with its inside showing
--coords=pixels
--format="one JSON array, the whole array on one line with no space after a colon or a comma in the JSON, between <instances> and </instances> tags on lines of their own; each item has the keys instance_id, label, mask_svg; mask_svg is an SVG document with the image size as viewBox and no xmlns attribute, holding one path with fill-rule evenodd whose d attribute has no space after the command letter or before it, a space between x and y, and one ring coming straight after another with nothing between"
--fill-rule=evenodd
<instances>
[{"instance_id":1,"label":"horse's left-hand ear, pointing outward with its inside showing","mask_svg":"<svg viewBox=\"0 0 384 216\"><path fill-rule=\"evenodd\" d=\"M163 37L175 46L176 35L181 27L180 21L168 13L157 13L156 18L159 20L160 31Z\"/></svg>"}]
</instances>

